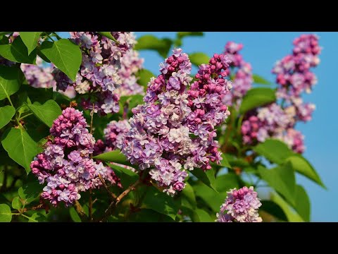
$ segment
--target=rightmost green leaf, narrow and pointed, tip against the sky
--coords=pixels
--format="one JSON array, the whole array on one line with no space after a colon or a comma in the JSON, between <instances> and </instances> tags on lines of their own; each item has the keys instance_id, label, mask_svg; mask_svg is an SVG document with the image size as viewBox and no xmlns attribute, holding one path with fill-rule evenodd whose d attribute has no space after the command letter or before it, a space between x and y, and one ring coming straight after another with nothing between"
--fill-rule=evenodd
<instances>
[{"instance_id":1,"label":"rightmost green leaf, narrow and pointed, tip against the sky","mask_svg":"<svg viewBox=\"0 0 338 254\"><path fill-rule=\"evenodd\" d=\"M320 176L318 176L317 172L315 171L315 169L313 169L310 162L308 162L303 156L295 155L288 157L286 162L290 163L294 171L299 172L303 176L306 176L308 179L311 179L315 183L318 183L320 186L326 188L324 183L320 179Z\"/></svg>"}]
</instances>

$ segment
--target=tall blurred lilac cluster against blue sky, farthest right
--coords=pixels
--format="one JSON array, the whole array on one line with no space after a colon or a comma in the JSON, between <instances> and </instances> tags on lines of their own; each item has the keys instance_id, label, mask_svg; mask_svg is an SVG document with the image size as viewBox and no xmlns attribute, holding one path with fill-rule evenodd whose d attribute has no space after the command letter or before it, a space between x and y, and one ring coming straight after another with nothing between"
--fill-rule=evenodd
<instances>
[{"instance_id":1,"label":"tall blurred lilac cluster against blue sky, farthest right","mask_svg":"<svg viewBox=\"0 0 338 254\"><path fill-rule=\"evenodd\" d=\"M319 63L320 47L315 35L301 35L294 40L293 54L277 61L273 73L277 75L277 99L273 103L246 114L242 123L243 141L246 144L277 138L294 150L305 150L303 135L294 129L297 121L310 121L315 105L303 103L302 92L311 92L317 79L310 71Z\"/></svg>"}]
</instances>

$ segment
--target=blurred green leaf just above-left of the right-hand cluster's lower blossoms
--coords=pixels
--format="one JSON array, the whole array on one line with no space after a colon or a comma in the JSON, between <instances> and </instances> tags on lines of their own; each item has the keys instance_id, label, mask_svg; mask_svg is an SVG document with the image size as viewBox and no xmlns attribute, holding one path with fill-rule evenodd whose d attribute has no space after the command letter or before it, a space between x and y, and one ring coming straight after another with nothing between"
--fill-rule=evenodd
<instances>
[{"instance_id":1,"label":"blurred green leaf just above-left of the right-hand cluster's lower blossoms","mask_svg":"<svg viewBox=\"0 0 338 254\"><path fill-rule=\"evenodd\" d=\"M246 92L243 98L239 112L242 114L250 109L263 106L270 102L275 102L276 95L275 90L265 87L257 87Z\"/></svg>"}]
</instances>

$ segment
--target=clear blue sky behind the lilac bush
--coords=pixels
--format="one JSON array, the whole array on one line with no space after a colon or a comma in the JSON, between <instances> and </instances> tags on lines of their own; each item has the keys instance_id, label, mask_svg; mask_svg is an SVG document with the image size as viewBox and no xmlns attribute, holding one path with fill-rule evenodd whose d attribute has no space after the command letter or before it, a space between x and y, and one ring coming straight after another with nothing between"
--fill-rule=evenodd
<instances>
[{"instance_id":1,"label":"clear blue sky behind the lilac bush","mask_svg":"<svg viewBox=\"0 0 338 254\"><path fill-rule=\"evenodd\" d=\"M153 34L157 37L175 37L175 32L135 32L137 37ZM242 54L251 63L253 73L274 81L271 73L273 64L292 51L292 41L302 33L309 32L205 32L204 37L187 37L183 40L184 52L204 52L208 56L223 52L227 41L244 44ZM334 102L338 95L338 32L315 32L320 36L323 51L320 65L313 71L318 84L311 95L304 96L307 102L316 104L313 120L299 124L297 128L305 135L304 156L317 169L328 190L320 188L305 177L297 176L297 183L306 188L311 199L311 220L313 222L338 222L337 159L338 120ZM62 33L63 37L68 37ZM157 52L142 51L144 67L158 74L158 64L163 61Z\"/></svg>"}]
</instances>

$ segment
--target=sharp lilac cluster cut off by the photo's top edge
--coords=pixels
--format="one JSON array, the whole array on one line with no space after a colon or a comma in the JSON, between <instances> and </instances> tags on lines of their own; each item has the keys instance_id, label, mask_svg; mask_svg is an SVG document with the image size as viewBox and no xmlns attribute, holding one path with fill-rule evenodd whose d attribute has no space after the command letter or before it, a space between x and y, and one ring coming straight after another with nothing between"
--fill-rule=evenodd
<instances>
[{"instance_id":1,"label":"sharp lilac cluster cut off by the photo's top edge","mask_svg":"<svg viewBox=\"0 0 338 254\"><path fill-rule=\"evenodd\" d=\"M102 115L118 112L120 95L115 93L123 80L118 74L120 60L135 43L131 32L111 32L115 38L110 40L96 32L70 32L73 42L78 44L82 51L80 71L76 81L70 80L65 73L55 68L54 78L58 90L65 90L73 86L79 94L91 93L93 98L83 99L84 109L93 109Z\"/></svg>"}]
</instances>

